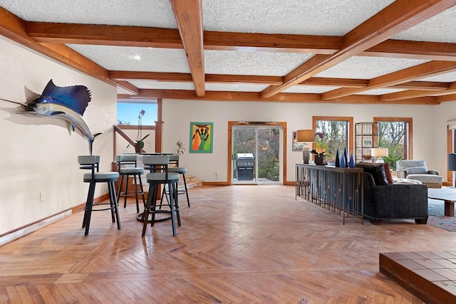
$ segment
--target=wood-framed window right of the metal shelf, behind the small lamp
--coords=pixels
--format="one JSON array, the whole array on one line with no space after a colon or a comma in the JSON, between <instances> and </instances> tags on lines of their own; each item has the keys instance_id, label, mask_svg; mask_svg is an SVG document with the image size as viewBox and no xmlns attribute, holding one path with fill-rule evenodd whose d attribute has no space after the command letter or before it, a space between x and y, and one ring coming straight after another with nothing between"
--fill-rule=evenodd
<instances>
[{"instance_id":1,"label":"wood-framed window right of the metal shelf, behind the small lamp","mask_svg":"<svg viewBox=\"0 0 456 304\"><path fill-rule=\"evenodd\" d=\"M380 147L388 148L388 157L383 157L383 161L395 170L399 159L412 158L412 118L374 117L373 120L380 122Z\"/></svg>"}]
</instances>

